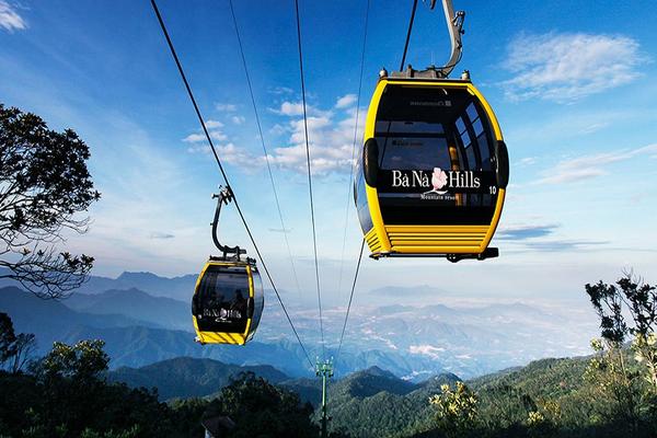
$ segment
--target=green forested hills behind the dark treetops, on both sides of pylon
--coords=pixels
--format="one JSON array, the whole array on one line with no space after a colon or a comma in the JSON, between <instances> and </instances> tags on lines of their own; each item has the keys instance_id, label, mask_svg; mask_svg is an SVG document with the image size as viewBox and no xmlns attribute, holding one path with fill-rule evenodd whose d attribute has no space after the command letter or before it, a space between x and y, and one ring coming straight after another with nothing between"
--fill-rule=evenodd
<instances>
[{"instance_id":1,"label":"green forested hills behind the dark treetops, on both sides of pylon","mask_svg":"<svg viewBox=\"0 0 657 438\"><path fill-rule=\"evenodd\" d=\"M631 362L632 358L625 356ZM476 399L476 420L465 433L491 437L624 436L627 424L614 416L616 401L601 391L591 373L598 356L542 359L464 381ZM208 359L178 358L139 369L119 369L111 381L159 389L162 400L201 395L211 400L241 371L252 371L299 395L315 407L319 420L321 383L318 379L289 379L270 367L235 367ZM350 437L442 436L437 430L437 407L430 399L457 388L454 374L439 374L412 383L377 367L331 381L330 429ZM636 436L652 436L653 423L641 423ZM479 434L479 435L476 435ZM643 435L642 435L643 434Z\"/></svg>"}]
</instances>

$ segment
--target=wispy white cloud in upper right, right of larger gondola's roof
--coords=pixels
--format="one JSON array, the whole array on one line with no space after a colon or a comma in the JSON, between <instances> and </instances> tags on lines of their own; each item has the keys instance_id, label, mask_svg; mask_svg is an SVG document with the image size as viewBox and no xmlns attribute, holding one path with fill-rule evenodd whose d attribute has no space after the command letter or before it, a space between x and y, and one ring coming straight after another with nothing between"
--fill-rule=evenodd
<instances>
[{"instance_id":1,"label":"wispy white cloud in upper right, right of larger gondola's roof","mask_svg":"<svg viewBox=\"0 0 657 438\"><path fill-rule=\"evenodd\" d=\"M646 61L639 44L622 35L520 35L508 51L505 66L514 78L504 87L514 100L576 101L633 81Z\"/></svg>"}]
</instances>

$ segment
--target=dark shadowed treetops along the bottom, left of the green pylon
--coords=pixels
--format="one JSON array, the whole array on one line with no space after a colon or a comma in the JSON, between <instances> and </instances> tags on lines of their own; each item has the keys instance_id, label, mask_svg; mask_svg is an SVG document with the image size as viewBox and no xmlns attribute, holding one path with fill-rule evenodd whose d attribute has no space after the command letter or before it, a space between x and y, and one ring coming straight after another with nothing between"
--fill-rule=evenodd
<instances>
[{"instance_id":1,"label":"dark shadowed treetops along the bottom, left of the green pylon","mask_svg":"<svg viewBox=\"0 0 657 438\"><path fill-rule=\"evenodd\" d=\"M7 320L0 318L0 325L11 326ZM155 390L108 383L103 346L97 339L55 343L30 373L0 371L0 393L11 394L0 397L0 436L198 437L201 418L219 414L237 423L231 437L316 436L310 404L252 372L233 379L212 402L188 399L168 405L158 401Z\"/></svg>"}]
</instances>

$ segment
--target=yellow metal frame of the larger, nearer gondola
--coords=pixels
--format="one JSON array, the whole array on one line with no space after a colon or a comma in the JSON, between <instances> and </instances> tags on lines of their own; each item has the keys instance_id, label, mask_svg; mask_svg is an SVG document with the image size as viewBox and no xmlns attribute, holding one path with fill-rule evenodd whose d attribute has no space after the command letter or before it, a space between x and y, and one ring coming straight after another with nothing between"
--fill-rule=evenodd
<instances>
[{"instance_id":1,"label":"yellow metal frame of the larger, nearer gondola","mask_svg":"<svg viewBox=\"0 0 657 438\"><path fill-rule=\"evenodd\" d=\"M374 89L370 102L365 125L365 141L374 137L377 111L381 102L383 91L388 85L402 87L439 87L451 89L465 89L481 102L495 134L495 139L503 141L502 129L493 108L483 94L469 81L407 81L394 79L381 79ZM499 188L495 212L489 226L387 226L381 215L379 194L376 187L366 184L366 196L369 214L372 220L372 229L365 233L367 244L377 255L390 253L400 254L481 254L483 253L499 222L504 207L505 189ZM394 244L393 244L394 242Z\"/></svg>"}]
</instances>

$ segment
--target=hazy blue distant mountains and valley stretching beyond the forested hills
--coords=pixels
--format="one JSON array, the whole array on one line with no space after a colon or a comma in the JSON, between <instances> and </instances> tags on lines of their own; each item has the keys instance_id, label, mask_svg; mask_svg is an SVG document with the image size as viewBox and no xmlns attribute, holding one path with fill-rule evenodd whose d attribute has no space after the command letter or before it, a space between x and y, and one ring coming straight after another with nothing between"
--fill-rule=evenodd
<instances>
[{"instance_id":1,"label":"hazy blue distant mountains and valley stretching beyond the forested hills","mask_svg":"<svg viewBox=\"0 0 657 438\"><path fill-rule=\"evenodd\" d=\"M291 377L312 373L307 359L314 361L321 355L316 309L288 302L309 357L269 291L253 342L244 347L201 347L193 342L188 303L195 280L195 275L164 278L150 273L124 273L115 279L92 276L81 291L60 301L44 301L10 286L0 289L0 311L10 314L18 331L36 335L39 354L55 341L104 339L113 369L187 356L239 366L272 365ZM407 292L402 288L397 296ZM438 293L429 287L415 292ZM588 354L597 328L580 313L520 302L377 306L373 293L365 293L365 302L351 308L337 376L376 366L413 382L441 372L468 379L542 357ZM390 287L378 293L392 297L394 291ZM344 312L324 309L327 356L337 351Z\"/></svg>"}]
</instances>

